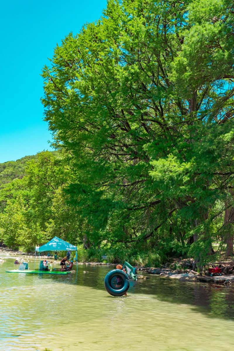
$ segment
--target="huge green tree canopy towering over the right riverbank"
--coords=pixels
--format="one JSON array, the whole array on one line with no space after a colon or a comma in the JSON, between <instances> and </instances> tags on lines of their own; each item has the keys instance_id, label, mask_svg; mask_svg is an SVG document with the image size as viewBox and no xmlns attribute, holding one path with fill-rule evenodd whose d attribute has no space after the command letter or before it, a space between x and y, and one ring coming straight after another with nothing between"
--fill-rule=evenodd
<instances>
[{"instance_id":1,"label":"huge green tree canopy towering over the right riverbank","mask_svg":"<svg viewBox=\"0 0 234 351\"><path fill-rule=\"evenodd\" d=\"M233 23L225 0L108 1L55 48L45 120L93 240L210 252L233 182Z\"/></svg>"}]
</instances>

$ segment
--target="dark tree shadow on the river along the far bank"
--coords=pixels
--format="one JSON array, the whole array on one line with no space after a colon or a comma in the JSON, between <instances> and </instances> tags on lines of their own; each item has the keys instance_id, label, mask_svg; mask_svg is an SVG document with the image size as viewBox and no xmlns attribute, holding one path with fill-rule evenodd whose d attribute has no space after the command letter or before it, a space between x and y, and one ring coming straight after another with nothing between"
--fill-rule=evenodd
<instances>
[{"instance_id":1,"label":"dark tree shadow on the river along the far bank","mask_svg":"<svg viewBox=\"0 0 234 351\"><path fill-rule=\"evenodd\" d=\"M74 269L76 270L76 267ZM87 286L103 290L103 293L107 294L104 288L104 278L111 269L113 269L113 266L78 265L78 273L75 272L67 276L44 274L34 276L33 279L36 279L39 284L40 281L45 284L46 280L49 279L50 283ZM16 273L8 274L16 275ZM31 276L31 274L28 274L28 276ZM139 279L136 286L128 290L128 294L132 296L137 294L151 295L151 297L163 302L190 305L197 312L210 318L233 319L234 317L234 289L232 286L179 282L176 279L148 276L150 279ZM27 277L27 279L32 279L32 277ZM17 284L19 284L19 280ZM113 298L108 294L107 296Z\"/></svg>"}]
</instances>

